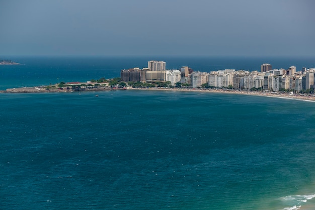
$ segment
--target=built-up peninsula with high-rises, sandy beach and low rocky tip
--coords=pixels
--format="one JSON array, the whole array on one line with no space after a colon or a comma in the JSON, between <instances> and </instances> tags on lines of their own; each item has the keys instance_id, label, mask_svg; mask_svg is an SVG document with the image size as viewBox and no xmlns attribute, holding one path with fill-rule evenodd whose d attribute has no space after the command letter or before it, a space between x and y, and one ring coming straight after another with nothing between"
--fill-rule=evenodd
<instances>
[{"instance_id":1,"label":"built-up peninsula with high-rises, sandy beach and low rocky tip","mask_svg":"<svg viewBox=\"0 0 315 210\"><path fill-rule=\"evenodd\" d=\"M261 72L225 69L218 71L194 71L188 66L167 70L164 61L148 61L148 68L121 70L120 77L104 77L87 82L60 82L36 87L8 88L0 93L22 92L74 92L103 90L171 90L202 91L243 95L291 98L315 101L315 68L303 67L296 71L272 69L262 64Z\"/></svg>"}]
</instances>

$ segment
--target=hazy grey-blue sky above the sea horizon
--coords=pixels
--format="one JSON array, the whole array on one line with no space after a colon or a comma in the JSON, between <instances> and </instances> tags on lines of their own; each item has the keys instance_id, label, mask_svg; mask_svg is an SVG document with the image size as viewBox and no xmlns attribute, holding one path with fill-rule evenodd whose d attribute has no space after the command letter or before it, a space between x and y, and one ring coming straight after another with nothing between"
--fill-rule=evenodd
<instances>
[{"instance_id":1,"label":"hazy grey-blue sky above the sea horizon","mask_svg":"<svg viewBox=\"0 0 315 210\"><path fill-rule=\"evenodd\" d=\"M0 55L314 56L312 0L0 0Z\"/></svg>"}]
</instances>

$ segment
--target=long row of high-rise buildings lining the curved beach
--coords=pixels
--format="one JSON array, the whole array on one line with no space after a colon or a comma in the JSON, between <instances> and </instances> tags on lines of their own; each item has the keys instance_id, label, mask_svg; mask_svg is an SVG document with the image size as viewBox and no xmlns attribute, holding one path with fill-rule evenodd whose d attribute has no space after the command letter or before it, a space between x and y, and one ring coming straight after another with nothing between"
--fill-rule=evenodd
<instances>
[{"instance_id":1,"label":"long row of high-rise buildings lining the curved beach","mask_svg":"<svg viewBox=\"0 0 315 210\"><path fill-rule=\"evenodd\" d=\"M271 69L270 64L263 64L261 70L245 71L235 69L225 69L218 71L194 72L188 66L182 66L180 70L165 70L166 62L148 61L148 68L131 68L121 70L121 80L141 81L147 83L170 81L172 86L177 82L188 83L191 87L201 87L207 83L210 87L234 88L234 89L252 89L263 88L273 91L302 91L314 90L315 86L315 68L302 68L296 72L295 66L288 69ZM164 70L161 70L164 69ZM264 72L266 71L266 72Z\"/></svg>"}]
</instances>

